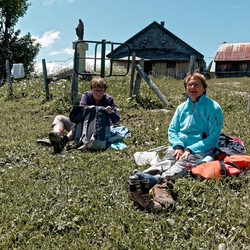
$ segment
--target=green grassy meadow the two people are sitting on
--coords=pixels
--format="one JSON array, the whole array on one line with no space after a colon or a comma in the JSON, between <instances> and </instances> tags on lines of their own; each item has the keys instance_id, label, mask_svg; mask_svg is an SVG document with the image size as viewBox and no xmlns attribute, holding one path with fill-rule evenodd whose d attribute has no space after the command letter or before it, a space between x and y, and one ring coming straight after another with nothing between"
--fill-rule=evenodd
<instances>
[{"instance_id":1,"label":"green grassy meadow the two people are sitting on","mask_svg":"<svg viewBox=\"0 0 250 250\"><path fill-rule=\"evenodd\" d=\"M108 78L132 134L122 151L53 155L40 146L57 114L68 115L71 83L42 79L0 88L0 249L250 249L250 177L223 181L176 180L174 208L138 209L127 198L133 154L166 144L174 110L184 100L182 81L152 78L173 105L164 105L145 82L138 103L128 100L129 77ZM250 78L211 79L207 95L224 113L223 132L240 137L250 152ZM79 82L79 98L89 89Z\"/></svg>"}]
</instances>

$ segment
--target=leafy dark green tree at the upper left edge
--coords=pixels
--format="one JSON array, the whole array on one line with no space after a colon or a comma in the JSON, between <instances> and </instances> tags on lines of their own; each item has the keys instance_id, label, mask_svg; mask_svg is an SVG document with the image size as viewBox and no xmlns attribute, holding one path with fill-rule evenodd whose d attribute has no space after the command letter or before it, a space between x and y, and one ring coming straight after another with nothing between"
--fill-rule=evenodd
<instances>
[{"instance_id":1,"label":"leafy dark green tree at the upper left edge","mask_svg":"<svg viewBox=\"0 0 250 250\"><path fill-rule=\"evenodd\" d=\"M6 60L10 60L10 65L23 63L26 74L34 69L33 60L41 45L29 33L19 37L21 31L14 30L18 19L26 14L30 5L28 0L0 0L0 78L5 78Z\"/></svg>"}]
</instances>

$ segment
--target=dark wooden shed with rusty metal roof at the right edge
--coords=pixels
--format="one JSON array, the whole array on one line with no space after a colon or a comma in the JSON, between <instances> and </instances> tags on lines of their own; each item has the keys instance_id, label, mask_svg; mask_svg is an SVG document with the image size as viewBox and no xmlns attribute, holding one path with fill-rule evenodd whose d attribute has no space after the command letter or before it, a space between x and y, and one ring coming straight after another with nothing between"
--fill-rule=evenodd
<instances>
[{"instance_id":1,"label":"dark wooden shed with rusty metal roof at the right edge","mask_svg":"<svg viewBox=\"0 0 250 250\"><path fill-rule=\"evenodd\" d=\"M219 44L214 62L216 77L250 76L250 42Z\"/></svg>"}]
</instances>

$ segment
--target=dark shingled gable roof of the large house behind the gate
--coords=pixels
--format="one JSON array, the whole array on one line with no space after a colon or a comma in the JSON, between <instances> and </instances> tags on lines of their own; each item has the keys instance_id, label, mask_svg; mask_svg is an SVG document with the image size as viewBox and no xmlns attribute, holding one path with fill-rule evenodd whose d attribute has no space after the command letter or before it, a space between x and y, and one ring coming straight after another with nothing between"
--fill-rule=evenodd
<instances>
[{"instance_id":1,"label":"dark shingled gable roof of the large house behind the gate","mask_svg":"<svg viewBox=\"0 0 250 250\"><path fill-rule=\"evenodd\" d=\"M137 57L145 60L189 61L191 55L196 56L198 60L204 57L164 28L163 22L152 22L124 43L130 47L130 55L135 53ZM125 47L121 45L113 51L113 58L126 57L126 53ZM107 57L110 58L111 53Z\"/></svg>"}]
</instances>

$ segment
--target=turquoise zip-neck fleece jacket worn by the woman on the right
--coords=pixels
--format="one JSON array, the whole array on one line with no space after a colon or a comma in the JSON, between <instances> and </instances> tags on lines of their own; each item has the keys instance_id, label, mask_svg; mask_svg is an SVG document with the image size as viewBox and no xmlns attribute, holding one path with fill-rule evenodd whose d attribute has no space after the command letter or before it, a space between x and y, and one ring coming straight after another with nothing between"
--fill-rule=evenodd
<instances>
[{"instance_id":1,"label":"turquoise zip-neck fleece jacket worn by the woman on the right","mask_svg":"<svg viewBox=\"0 0 250 250\"><path fill-rule=\"evenodd\" d=\"M196 102L188 98L177 107L168 139L173 149L203 153L217 146L222 125L220 105L203 94Z\"/></svg>"}]
</instances>

